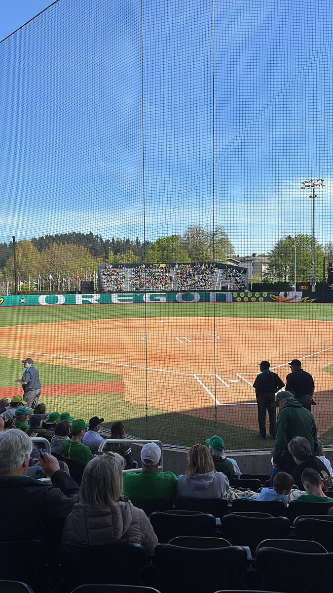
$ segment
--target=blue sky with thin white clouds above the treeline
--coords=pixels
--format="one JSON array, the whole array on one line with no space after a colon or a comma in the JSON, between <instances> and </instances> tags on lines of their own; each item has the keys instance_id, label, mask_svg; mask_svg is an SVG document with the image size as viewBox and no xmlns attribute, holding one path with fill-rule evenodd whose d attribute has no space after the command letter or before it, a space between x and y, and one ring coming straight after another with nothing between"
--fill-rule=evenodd
<instances>
[{"instance_id":1,"label":"blue sky with thin white clouds above the treeline","mask_svg":"<svg viewBox=\"0 0 333 593\"><path fill-rule=\"evenodd\" d=\"M6 4L0 39L50 3ZM214 221L263 253L311 232L312 177L333 240L332 17L328 0L216 0L213 117L210 0L143 1L143 105L139 2L59 0L0 44L0 240Z\"/></svg>"}]
</instances>

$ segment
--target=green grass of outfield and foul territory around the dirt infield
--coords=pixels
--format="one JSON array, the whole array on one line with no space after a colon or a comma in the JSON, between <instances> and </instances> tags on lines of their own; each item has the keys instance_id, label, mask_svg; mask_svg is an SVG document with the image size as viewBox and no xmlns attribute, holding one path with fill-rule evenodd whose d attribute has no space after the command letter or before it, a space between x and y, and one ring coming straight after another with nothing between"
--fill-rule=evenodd
<instances>
[{"instance_id":1,"label":"green grass of outfield and foul territory around the dirt infield","mask_svg":"<svg viewBox=\"0 0 333 593\"><path fill-rule=\"evenodd\" d=\"M333 321L333 306L330 304L130 304L130 305L68 305L45 307L12 307L2 308L0 326L18 326L25 324L61 323L65 321L128 319L149 317L247 317L274 318L290 320ZM52 336L56 340L56 336ZM5 348L5 343L2 344ZM31 350L36 345L31 345ZM27 352L28 355L28 352ZM15 387L14 378L20 377L23 366L19 360L2 358L2 374L0 375L0 391L5 397L5 388ZM89 369L68 368L39 362L41 381L44 385L89 384L121 381L120 374L114 372L97 372ZM325 369L328 374L333 372L333 365ZM17 393L20 393L20 387ZM142 438L159 438L162 442L188 446L194 442L202 442L207 436L218 432L225 438L228 449L262 449L271 448L273 441L262 441L258 438L257 426L253 430L238 426L218 423L212 420L198 419L188 414L165 412L155 407L146 410L145 405L136 405L126 401L124 393L89 394L87 389L75 396L61 396L53 393L41 397L47 410L68 411L75 417L86 420L96 414L105 418L105 426L115 420L123 420L127 433ZM148 412L148 419L146 417ZM213 414L212 414L213 417ZM332 442L333 429L322 435L325 443ZM264 447L263 447L264 445Z\"/></svg>"}]
</instances>

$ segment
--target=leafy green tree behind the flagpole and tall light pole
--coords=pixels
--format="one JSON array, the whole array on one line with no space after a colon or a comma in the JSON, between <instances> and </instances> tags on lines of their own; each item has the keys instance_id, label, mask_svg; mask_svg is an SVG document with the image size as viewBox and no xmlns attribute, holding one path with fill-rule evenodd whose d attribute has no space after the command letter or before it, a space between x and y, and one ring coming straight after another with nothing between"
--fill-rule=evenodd
<instances>
[{"instance_id":1,"label":"leafy green tree behind the flagpole and tall light pole","mask_svg":"<svg viewBox=\"0 0 333 593\"><path fill-rule=\"evenodd\" d=\"M299 233L295 237L289 235L277 241L270 253L270 278L278 282L290 282L294 280L294 256L293 245L296 243L296 279L297 282L310 282L312 278L312 237ZM324 249L315 240L315 272L317 281L322 280L322 263Z\"/></svg>"}]
</instances>

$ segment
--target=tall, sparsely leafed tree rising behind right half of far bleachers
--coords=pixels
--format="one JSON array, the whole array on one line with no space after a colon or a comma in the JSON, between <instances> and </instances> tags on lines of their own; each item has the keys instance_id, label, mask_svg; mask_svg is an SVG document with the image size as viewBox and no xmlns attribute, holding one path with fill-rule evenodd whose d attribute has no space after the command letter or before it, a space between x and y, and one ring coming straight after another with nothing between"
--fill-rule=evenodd
<instances>
[{"instance_id":1,"label":"tall, sparsely leafed tree rising behind right half of far bleachers","mask_svg":"<svg viewBox=\"0 0 333 593\"><path fill-rule=\"evenodd\" d=\"M182 235L182 244L192 262L226 262L235 255L233 245L223 227L209 231L199 225L188 227Z\"/></svg>"}]
</instances>

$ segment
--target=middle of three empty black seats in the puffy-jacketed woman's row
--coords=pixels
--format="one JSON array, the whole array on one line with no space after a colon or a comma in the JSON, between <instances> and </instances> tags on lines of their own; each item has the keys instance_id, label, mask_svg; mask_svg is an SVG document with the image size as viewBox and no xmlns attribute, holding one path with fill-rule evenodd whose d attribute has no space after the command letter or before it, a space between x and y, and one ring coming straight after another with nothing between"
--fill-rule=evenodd
<instances>
[{"instance_id":1,"label":"middle of three empty black seats in the puffy-jacketed woman's row","mask_svg":"<svg viewBox=\"0 0 333 593\"><path fill-rule=\"evenodd\" d=\"M286 539L290 534L290 522L286 517L239 517L226 515L221 521L222 535L233 546L248 546L252 556L262 540Z\"/></svg>"}]
</instances>

